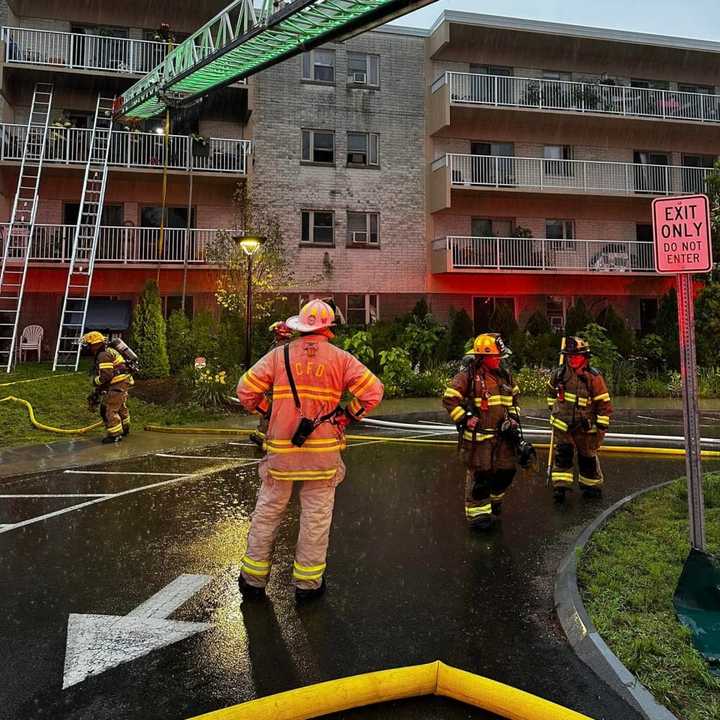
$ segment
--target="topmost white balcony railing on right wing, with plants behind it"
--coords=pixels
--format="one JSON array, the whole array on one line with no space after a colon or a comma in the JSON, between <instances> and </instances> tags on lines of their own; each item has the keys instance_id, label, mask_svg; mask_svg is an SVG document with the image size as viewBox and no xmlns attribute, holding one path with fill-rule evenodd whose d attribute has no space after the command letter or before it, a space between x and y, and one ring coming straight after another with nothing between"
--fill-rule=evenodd
<instances>
[{"instance_id":1,"label":"topmost white balcony railing on right wing, with plants behind it","mask_svg":"<svg viewBox=\"0 0 720 720\"><path fill-rule=\"evenodd\" d=\"M458 72L441 75L433 92L444 85L450 102L458 105L720 123L720 95L709 93Z\"/></svg>"}]
</instances>

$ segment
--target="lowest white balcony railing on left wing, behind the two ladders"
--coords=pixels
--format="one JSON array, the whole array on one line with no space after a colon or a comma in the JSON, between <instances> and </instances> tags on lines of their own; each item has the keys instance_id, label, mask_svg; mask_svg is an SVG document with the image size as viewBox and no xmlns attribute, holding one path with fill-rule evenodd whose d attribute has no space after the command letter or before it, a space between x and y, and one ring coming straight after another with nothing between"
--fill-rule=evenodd
<instances>
[{"instance_id":1,"label":"lowest white balcony railing on left wing, behind the two ladders","mask_svg":"<svg viewBox=\"0 0 720 720\"><path fill-rule=\"evenodd\" d=\"M0 223L0 249L7 238L8 223ZM36 224L30 262L67 264L72 254L74 225ZM101 264L174 263L187 261L203 265L206 249L217 230L165 228L160 247L160 228L102 226L98 237L96 262ZM20 249L13 252L20 252Z\"/></svg>"}]
</instances>

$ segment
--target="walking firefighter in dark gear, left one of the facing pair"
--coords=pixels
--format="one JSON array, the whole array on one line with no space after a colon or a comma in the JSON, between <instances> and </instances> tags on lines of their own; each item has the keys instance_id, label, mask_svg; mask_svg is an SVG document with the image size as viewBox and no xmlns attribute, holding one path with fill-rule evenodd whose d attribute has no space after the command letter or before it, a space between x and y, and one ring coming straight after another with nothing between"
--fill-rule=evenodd
<instances>
[{"instance_id":1,"label":"walking firefighter in dark gear, left one of the facing pair","mask_svg":"<svg viewBox=\"0 0 720 720\"><path fill-rule=\"evenodd\" d=\"M443 405L460 433L467 467L465 517L470 527L488 530L499 515L516 472L520 390L501 367L510 354L500 335L479 335L472 360L450 382Z\"/></svg>"}]
</instances>

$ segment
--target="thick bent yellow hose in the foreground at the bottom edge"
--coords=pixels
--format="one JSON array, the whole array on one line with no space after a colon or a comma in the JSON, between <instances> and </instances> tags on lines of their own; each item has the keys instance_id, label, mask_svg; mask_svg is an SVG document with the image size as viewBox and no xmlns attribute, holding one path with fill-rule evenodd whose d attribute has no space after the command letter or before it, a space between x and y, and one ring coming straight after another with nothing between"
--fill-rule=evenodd
<instances>
[{"instance_id":1,"label":"thick bent yellow hose in the foreground at the bottom edge","mask_svg":"<svg viewBox=\"0 0 720 720\"><path fill-rule=\"evenodd\" d=\"M587 715L439 660L299 687L192 720L309 720L422 695L449 697L508 720L590 720Z\"/></svg>"}]
</instances>

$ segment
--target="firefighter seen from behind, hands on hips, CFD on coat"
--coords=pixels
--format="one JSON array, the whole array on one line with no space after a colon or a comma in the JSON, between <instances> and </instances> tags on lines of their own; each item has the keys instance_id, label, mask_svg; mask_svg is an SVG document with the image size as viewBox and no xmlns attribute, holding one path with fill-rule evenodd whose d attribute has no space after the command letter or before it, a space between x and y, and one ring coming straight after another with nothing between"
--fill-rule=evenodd
<instances>
[{"instance_id":1,"label":"firefighter seen from behind, hands on hips, CFD on coat","mask_svg":"<svg viewBox=\"0 0 720 720\"><path fill-rule=\"evenodd\" d=\"M246 598L262 599L273 546L293 487L299 487L300 532L293 564L298 601L325 590L325 561L335 488L345 476L344 430L383 396L382 383L359 360L328 341L333 309L321 300L287 320L300 337L276 347L240 379L238 399L250 411L272 395L272 415L260 462L261 485L238 580ZM345 393L352 396L343 408Z\"/></svg>"}]
</instances>

